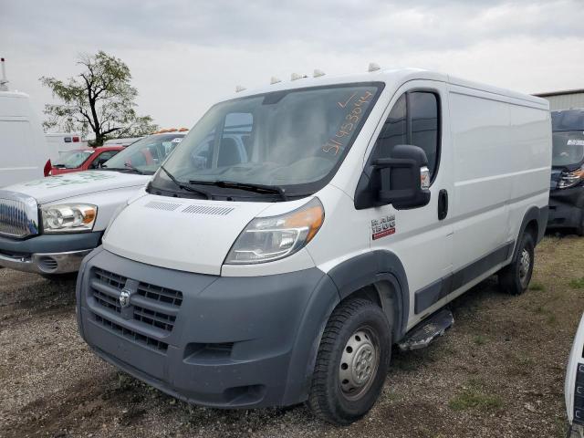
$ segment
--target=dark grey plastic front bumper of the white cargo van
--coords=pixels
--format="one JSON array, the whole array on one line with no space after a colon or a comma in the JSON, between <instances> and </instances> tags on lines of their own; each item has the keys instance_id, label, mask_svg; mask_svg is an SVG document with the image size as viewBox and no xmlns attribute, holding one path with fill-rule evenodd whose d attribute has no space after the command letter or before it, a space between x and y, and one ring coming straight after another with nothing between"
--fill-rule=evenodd
<instances>
[{"instance_id":1,"label":"dark grey plastic front bumper of the white cargo van","mask_svg":"<svg viewBox=\"0 0 584 438\"><path fill-rule=\"evenodd\" d=\"M339 302L317 268L208 276L101 247L83 262L77 294L79 331L101 358L178 399L221 408L305 401L320 336Z\"/></svg>"}]
</instances>

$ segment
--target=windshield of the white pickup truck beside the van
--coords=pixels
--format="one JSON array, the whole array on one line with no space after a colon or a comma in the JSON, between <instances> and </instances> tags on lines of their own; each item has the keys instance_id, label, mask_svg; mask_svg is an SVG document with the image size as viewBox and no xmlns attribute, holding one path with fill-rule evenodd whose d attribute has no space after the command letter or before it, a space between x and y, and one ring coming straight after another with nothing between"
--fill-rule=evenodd
<instances>
[{"instance_id":1,"label":"windshield of the white pickup truck beside the van","mask_svg":"<svg viewBox=\"0 0 584 438\"><path fill-rule=\"evenodd\" d=\"M184 137L184 133L155 134L130 144L126 149L105 162L109 170L135 169L152 174Z\"/></svg>"}]
</instances>

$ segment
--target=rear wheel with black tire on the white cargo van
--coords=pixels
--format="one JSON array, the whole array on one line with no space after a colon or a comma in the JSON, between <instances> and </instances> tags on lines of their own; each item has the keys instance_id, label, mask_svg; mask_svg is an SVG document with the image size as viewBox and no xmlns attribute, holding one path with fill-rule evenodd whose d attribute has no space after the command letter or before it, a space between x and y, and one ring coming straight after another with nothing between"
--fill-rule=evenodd
<instances>
[{"instance_id":1,"label":"rear wheel with black tire on the white cargo van","mask_svg":"<svg viewBox=\"0 0 584 438\"><path fill-rule=\"evenodd\" d=\"M499 271L499 286L509 295L521 295L529 287L534 266L534 241L524 233L513 261ZM526 258L528 257L528 264Z\"/></svg>"}]
</instances>

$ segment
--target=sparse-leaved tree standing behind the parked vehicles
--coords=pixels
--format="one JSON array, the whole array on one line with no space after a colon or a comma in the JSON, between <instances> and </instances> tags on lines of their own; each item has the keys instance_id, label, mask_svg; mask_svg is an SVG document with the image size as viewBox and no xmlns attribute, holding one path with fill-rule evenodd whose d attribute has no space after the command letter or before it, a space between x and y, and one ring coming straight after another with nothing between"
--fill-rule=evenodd
<instances>
[{"instance_id":1,"label":"sparse-leaved tree standing behind the parked vehicles","mask_svg":"<svg viewBox=\"0 0 584 438\"><path fill-rule=\"evenodd\" d=\"M60 103L45 105L46 129L95 134L95 145L114 137L138 137L157 130L151 116L136 114L138 90L130 85L130 68L103 51L78 57L82 72L60 80L42 77Z\"/></svg>"}]
</instances>

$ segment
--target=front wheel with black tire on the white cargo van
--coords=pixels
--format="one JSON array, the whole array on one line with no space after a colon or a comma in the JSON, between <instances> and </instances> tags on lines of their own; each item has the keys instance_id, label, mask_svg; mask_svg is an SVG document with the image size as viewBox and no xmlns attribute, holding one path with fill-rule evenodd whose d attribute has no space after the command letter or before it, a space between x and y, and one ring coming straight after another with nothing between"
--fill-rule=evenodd
<instances>
[{"instance_id":1,"label":"front wheel with black tire on the white cargo van","mask_svg":"<svg viewBox=\"0 0 584 438\"><path fill-rule=\"evenodd\" d=\"M355 345L354 350L351 345ZM349 360L349 353L353 360ZM381 308L361 298L341 303L328 318L320 340L308 407L318 418L333 424L359 420L379 398L390 360L391 323ZM349 367L349 361L354 366ZM351 381L341 381L341 373L345 377L350 374ZM353 385L360 380L365 380L361 387Z\"/></svg>"}]
</instances>

